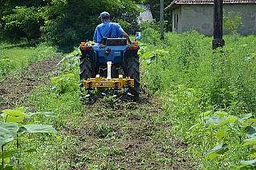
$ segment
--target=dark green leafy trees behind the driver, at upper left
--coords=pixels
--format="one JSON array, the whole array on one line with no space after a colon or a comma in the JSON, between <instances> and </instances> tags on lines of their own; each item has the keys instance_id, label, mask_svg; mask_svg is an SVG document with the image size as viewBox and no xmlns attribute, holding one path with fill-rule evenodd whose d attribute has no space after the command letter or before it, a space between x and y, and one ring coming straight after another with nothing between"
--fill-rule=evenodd
<instances>
[{"instance_id":1,"label":"dark green leafy trees behind the driver, at upper left","mask_svg":"<svg viewBox=\"0 0 256 170\"><path fill-rule=\"evenodd\" d=\"M113 22L120 22L126 32L138 30L138 10L131 0L28 0L0 6L0 38L40 38L59 49L71 51L74 45L91 40L99 14L106 10Z\"/></svg>"}]
</instances>

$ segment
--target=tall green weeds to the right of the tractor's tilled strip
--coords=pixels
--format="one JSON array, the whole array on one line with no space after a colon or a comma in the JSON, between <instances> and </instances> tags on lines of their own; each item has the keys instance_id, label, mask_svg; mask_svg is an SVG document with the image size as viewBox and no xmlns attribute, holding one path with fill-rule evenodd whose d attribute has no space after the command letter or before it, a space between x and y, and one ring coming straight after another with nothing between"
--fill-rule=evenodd
<instances>
[{"instance_id":1,"label":"tall green weeds to the right of the tractor's tilled strip","mask_svg":"<svg viewBox=\"0 0 256 170\"><path fill-rule=\"evenodd\" d=\"M238 168L240 160L255 158L251 156L255 146L242 145L250 138L244 128L255 129L254 122L241 120L255 118L256 36L225 35L226 45L216 50L212 49L212 39L193 30L165 34L165 42L142 39L150 47L141 50L142 81L161 96L166 109L163 121L172 123L173 133L189 142L198 168ZM201 117L207 111L208 117ZM236 123L217 124L228 117L235 117ZM207 122L219 126L208 128ZM195 125L197 128L191 128ZM217 139L220 128L229 137ZM211 160L207 151L221 142L229 144L230 151L226 155L216 153L217 158Z\"/></svg>"}]
</instances>

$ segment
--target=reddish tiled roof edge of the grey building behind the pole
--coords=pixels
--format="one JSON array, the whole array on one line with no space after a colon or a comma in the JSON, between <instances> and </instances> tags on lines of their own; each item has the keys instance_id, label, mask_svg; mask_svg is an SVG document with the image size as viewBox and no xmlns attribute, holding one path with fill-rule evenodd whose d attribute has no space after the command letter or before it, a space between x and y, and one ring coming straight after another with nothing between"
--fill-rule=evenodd
<instances>
[{"instance_id":1,"label":"reddish tiled roof edge of the grey building behind the pole","mask_svg":"<svg viewBox=\"0 0 256 170\"><path fill-rule=\"evenodd\" d=\"M165 10L172 10L177 5L213 4L214 0L174 0ZM256 3L256 0L223 0L223 3Z\"/></svg>"}]
</instances>

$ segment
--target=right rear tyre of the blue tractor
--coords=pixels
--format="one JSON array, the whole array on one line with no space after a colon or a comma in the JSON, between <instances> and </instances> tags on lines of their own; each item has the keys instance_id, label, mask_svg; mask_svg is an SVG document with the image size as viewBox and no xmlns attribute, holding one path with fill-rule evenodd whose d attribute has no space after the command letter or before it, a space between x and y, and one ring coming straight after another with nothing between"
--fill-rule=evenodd
<instances>
[{"instance_id":1,"label":"right rear tyre of the blue tractor","mask_svg":"<svg viewBox=\"0 0 256 170\"><path fill-rule=\"evenodd\" d=\"M131 89L132 95L134 95L134 101L139 100L140 94L140 62L139 55L135 54L127 58L126 77L134 79L134 88Z\"/></svg>"}]
</instances>

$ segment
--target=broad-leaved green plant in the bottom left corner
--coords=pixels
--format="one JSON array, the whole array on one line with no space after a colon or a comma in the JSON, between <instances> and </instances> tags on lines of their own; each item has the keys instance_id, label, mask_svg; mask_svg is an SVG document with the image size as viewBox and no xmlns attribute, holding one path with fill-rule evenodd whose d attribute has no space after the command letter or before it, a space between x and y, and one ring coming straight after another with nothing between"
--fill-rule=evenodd
<instances>
[{"instance_id":1,"label":"broad-leaved green plant in the bottom left corner","mask_svg":"<svg viewBox=\"0 0 256 170\"><path fill-rule=\"evenodd\" d=\"M14 165L10 164L11 159L15 156L19 164L21 156L21 143L30 139L26 133L52 133L57 134L55 128L51 125L41 125L36 121L35 115L43 114L45 116L54 116L54 113L25 113L26 109L5 109L2 110L2 120L0 123L0 147L2 148L2 163L0 168L13 169ZM36 123L36 124L35 124ZM26 137L24 137L26 136ZM35 136L33 136L35 138ZM32 138L32 139L33 139ZM10 144L16 140L16 145ZM25 152L35 152L35 148L29 148ZM24 152L24 151L23 151ZM7 164L7 165L6 165ZM27 164L26 169L30 169ZM20 167L19 167L20 168Z\"/></svg>"}]
</instances>

